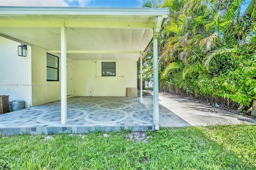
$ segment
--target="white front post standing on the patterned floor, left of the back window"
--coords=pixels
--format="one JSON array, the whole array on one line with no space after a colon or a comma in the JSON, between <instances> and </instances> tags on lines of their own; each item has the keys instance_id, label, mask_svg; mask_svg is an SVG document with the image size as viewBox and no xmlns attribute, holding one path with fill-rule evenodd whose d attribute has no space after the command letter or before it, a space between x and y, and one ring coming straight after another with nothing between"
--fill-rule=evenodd
<instances>
[{"instance_id":1,"label":"white front post standing on the patterned floor, left of the back window","mask_svg":"<svg viewBox=\"0 0 256 170\"><path fill-rule=\"evenodd\" d=\"M61 68L61 123L67 123L67 49L66 49L66 27L61 22L60 27L60 68Z\"/></svg>"}]
</instances>

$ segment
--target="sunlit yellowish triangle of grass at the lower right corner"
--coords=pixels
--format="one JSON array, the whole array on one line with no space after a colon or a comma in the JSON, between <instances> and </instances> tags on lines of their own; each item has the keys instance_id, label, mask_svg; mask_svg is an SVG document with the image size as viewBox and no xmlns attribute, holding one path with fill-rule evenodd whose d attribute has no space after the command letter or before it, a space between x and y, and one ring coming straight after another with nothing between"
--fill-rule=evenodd
<instances>
[{"instance_id":1,"label":"sunlit yellowish triangle of grass at the lower right corner","mask_svg":"<svg viewBox=\"0 0 256 170\"><path fill-rule=\"evenodd\" d=\"M227 152L233 152L244 162L256 169L256 126L241 123L238 125L211 125L201 127L202 132Z\"/></svg>"}]
</instances>

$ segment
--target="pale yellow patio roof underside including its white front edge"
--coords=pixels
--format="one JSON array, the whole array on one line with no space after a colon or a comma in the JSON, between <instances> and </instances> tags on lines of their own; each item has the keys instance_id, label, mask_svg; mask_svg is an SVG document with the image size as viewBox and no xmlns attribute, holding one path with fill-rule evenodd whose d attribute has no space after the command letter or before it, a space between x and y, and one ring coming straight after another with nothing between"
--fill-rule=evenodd
<instances>
[{"instance_id":1,"label":"pale yellow patio roof underside including its white front edge","mask_svg":"<svg viewBox=\"0 0 256 170\"><path fill-rule=\"evenodd\" d=\"M167 17L167 8L2 6L0 36L60 54L65 22L68 58L137 60Z\"/></svg>"}]
</instances>

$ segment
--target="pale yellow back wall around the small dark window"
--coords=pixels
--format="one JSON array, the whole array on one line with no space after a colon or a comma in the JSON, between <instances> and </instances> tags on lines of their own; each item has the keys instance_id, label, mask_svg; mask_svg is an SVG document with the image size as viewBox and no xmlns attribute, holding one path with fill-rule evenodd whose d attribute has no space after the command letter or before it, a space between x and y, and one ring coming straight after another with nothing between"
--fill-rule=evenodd
<instances>
[{"instance_id":1,"label":"pale yellow back wall around the small dark window","mask_svg":"<svg viewBox=\"0 0 256 170\"><path fill-rule=\"evenodd\" d=\"M126 96L127 87L137 87L137 61L115 61L115 77L101 77L102 62L74 61L75 96Z\"/></svg>"}]
</instances>

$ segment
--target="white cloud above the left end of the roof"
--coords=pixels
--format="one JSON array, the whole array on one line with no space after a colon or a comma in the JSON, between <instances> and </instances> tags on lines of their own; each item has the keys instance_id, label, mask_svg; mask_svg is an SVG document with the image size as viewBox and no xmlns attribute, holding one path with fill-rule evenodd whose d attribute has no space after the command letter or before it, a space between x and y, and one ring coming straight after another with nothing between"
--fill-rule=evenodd
<instances>
[{"instance_id":1,"label":"white cloud above the left end of the roof","mask_svg":"<svg viewBox=\"0 0 256 170\"><path fill-rule=\"evenodd\" d=\"M64 0L0 0L0 6L68 6Z\"/></svg>"}]
</instances>

